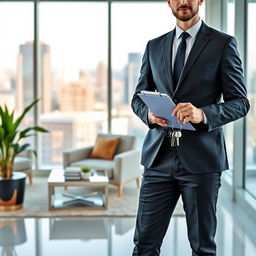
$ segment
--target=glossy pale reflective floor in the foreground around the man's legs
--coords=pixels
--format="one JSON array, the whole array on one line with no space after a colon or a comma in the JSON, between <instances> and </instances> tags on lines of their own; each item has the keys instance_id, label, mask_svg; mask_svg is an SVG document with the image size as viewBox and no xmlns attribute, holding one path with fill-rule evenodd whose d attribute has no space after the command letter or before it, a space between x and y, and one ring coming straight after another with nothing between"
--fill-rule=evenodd
<instances>
[{"instance_id":1,"label":"glossy pale reflective floor in the foreground around the man's legs","mask_svg":"<svg viewBox=\"0 0 256 256\"><path fill-rule=\"evenodd\" d=\"M134 218L0 219L0 255L130 256ZM218 256L255 256L256 224L222 191ZM16 253L16 254L15 254ZM172 219L161 256L190 256L184 217Z\"/></svg>"}]
</instances>

